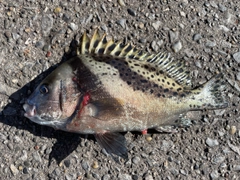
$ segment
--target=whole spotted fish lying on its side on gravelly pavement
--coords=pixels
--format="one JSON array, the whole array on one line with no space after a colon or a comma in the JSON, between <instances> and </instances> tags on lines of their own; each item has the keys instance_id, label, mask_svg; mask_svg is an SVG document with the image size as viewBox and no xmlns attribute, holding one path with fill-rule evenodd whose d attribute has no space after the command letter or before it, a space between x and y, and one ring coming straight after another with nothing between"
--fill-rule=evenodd
<instances>
[{"instance_id":1,"label":"whole spotted fish lying on its side on gravelly pavement","mask_svg":"<svg viewBox=\"0 0 240 180\"><path fill-rule=\"evenodd\" d=\"M107 40L96 30L91 38L83 34L78 55L47 76L23 108L35 123L94 134L109 154L127 157L119 132L179 126L187 111L226 108L224 89L222 74L193 88L184 61Z\"/></svg>"}]
</instances>

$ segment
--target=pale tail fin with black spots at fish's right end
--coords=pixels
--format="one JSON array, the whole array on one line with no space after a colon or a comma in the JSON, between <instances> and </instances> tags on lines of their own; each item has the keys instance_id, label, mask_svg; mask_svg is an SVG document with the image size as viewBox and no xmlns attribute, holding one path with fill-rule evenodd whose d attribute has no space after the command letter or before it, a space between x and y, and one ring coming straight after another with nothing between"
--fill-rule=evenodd
<instances>
[{"instance_id":1,"label":"pale tail fin with black spots at fish's right end","mask_svg":"<svg viewBox=\"0 0 240 180\"><path fill-rule=\"evenodd\" d=\"M223 74L218 74L203 86L193 92L198 92L195 100L200 103L200 109L221 109L228 107L228 102L225 100L222 92L226 89L226 81Z\"/></svg>"}]
</instances>

